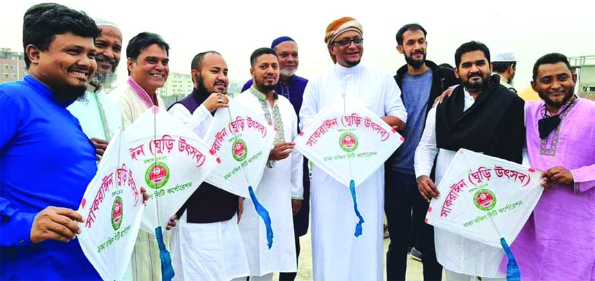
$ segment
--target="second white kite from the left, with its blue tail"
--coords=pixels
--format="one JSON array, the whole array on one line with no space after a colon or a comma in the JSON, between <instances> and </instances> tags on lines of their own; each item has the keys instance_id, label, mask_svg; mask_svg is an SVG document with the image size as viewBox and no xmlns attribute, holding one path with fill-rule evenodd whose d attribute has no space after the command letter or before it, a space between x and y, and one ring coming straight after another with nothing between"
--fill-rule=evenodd
<instances>
[{"instance_id":1,"label":"second white kite from the left, with its blue tail","mask_svg":"<svg viewBox=\"0 0 595 281\"><path fill-rule=\"evenodd\" d=\"M163 228L216 168L219 159L196 133L156 106L138 117L124 135L131 168L140 173L139 180L149 194L140 226L155 233L163 280L170 280L174 273Z\"/></svg>"}]
</instances>

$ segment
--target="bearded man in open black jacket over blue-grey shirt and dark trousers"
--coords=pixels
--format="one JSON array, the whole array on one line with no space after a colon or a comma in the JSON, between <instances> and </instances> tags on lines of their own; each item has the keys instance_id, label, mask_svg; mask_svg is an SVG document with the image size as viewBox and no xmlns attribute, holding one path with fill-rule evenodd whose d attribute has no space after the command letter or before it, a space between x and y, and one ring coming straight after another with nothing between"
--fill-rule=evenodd
<instances>
[{"instance_id":1,"label":"bearded man in open black jacket over blue-grey shirt and dark trousers","mask_svg":"<svg viewBox=\"0 0 595 281\"><path fill-rule=\"evenodd\" d=\"M449 86L458 84L458 81L455 72L425 59L428 46L426 34L425 29L417 23L406 24L396 32L396 50L405 56L407 64L399 68L394 79L401 88L408 126L401 132L405 142L385 163L384 206L390 232L386 255L388 280L405 280L412 228L417 231L417 249L423 253L423 278L442 278L442 267L436 260L434 250L434 230L424 222L429 203L423 200L417 190L413 155L434 99Z\"/></svg>"}]
</instances>

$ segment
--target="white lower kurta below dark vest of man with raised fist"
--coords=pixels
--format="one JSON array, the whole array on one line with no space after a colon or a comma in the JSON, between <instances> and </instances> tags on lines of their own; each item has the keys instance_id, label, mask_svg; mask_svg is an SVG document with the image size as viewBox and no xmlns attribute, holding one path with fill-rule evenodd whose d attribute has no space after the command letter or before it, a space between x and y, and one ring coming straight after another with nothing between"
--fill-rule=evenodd
<instances>
[{"instance_id":1,"label":"white lower kurta below dark vest of man with raised fist","mask_svg":"<svg viewBox=\"0 0 595 281\"><path fill-rule=\"evenodd\" d=\"M174 280L232 280L250 274L237 215L225 222L192 224L184 213L170 241Z\"/></svg>"}]
</instances>

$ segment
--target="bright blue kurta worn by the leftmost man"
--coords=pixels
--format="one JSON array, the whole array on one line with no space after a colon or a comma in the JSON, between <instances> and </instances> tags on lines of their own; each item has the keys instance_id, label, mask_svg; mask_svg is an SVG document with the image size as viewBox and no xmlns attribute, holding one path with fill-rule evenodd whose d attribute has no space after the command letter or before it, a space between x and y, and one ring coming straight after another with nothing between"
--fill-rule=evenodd
<instances>
[{"instance_id":1,"label":"bright blue kurta worn by the leftmost man","mask_svg":"<svg viewBox=\"0 0 595 281\"><path fill-rule=\"evenodd\" d=\"M30 76L0 85L0 280L100 280L77 239L30 241L35 215L77 210L97 172L71 103Z\"/></svg>"}]
</instances>

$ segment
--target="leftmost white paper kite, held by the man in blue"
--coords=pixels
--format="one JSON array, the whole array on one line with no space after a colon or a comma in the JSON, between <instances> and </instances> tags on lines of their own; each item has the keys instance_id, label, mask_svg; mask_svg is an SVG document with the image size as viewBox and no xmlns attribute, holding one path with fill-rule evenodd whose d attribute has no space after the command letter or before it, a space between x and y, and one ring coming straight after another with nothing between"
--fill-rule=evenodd
<instances>
[{"instance_id":1,"label":"leftmost white paper kite, held by the man in blue","mask_svg":"<svg viewBox=\"0 0 595 281\"><path fill-rule=\"evenodd\" d=\"M145 209L131 161L118 130L77 211L85 219L77 235L82 251L103 280L124 277Z\"/></svg>"}]
</instances>

